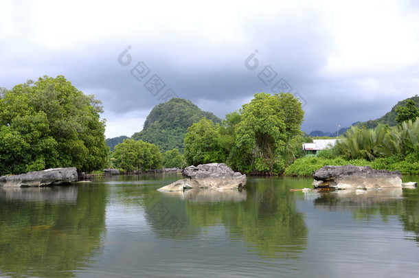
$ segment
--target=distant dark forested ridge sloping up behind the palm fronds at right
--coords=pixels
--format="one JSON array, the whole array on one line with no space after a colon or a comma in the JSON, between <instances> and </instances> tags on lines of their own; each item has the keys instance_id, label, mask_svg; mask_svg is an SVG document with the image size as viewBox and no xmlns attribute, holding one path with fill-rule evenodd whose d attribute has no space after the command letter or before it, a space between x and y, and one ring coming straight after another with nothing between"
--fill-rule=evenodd
<instances>
[{"instance_id":1,"label":"distant dark forested ridge sloping up behind the palm fronds at right","mask_svg":"<svg viewBox=\"0 0 419 278\"><path fill-rule=\"evenodd\" d=\"M400 100L395 106L393 106L392 110L385 113L383 117L379 117L378 119L370 119L368 121L356 121L351 126L365 126L366 128L376 128L378 124L388 124L389 126L397 126L396 121L396 107L397 106L406 106L407 100L413 100L416 102L416 107L419 108L419 96L415 95L414 97L408 97L405 100ZM343 135L348 128L339 128L339 135ZM323 132L321 130L313 130L309 134L311 137L337 137L337 130L335 132Z\"/></svg>"}]
</instances>

